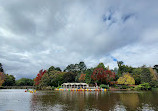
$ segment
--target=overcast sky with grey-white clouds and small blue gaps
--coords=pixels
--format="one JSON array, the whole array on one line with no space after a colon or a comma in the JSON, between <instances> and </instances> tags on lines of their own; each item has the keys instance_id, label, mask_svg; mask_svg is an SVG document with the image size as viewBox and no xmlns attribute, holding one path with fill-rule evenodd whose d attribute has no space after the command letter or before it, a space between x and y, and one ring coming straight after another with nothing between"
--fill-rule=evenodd
<instances>
[{"instance_id":1,"label":"overcast sky with grey-white clouds and small blue gaps","mask_svg":"<svg viewBox=\"0 0 158 111\"><path fill-rule=\"evenodd\" d=\"M0 63L16 78L84 61L158 64L157 0L0 0Z\"/></svg>"}]
</instances>

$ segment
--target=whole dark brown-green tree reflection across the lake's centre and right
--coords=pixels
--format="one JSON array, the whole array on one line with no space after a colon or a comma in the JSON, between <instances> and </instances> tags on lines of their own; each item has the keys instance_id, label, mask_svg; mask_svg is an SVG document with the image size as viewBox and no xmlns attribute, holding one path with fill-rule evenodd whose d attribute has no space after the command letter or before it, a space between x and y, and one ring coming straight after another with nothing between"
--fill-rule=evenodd
<instances>
[{"instance_id":1,"label":"whole dark brown-green tree reflection across the lake's centre and right","mask_svg":"<svg viewBox=\"0 0 158 111\"><path fill-rule=\"evenodd\" d=\"M158 95L153 93L115 92L38 92L32 97L32 110L136 110L144 107L157 108ZM150 105L152 104L152 106Z\"/></svg>"}]
</instances>

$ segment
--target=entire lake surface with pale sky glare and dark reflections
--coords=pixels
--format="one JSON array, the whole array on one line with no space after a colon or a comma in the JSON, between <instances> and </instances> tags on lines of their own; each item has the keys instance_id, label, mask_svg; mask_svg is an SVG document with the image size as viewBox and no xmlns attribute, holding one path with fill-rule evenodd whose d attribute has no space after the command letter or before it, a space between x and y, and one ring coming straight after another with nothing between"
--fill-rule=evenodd
<instances>
[{"instance_id":1,"label":"entire lake surface with pale sky glare and dark reflections","mask_svg":"<svg viewBox=\"0 0 158 111\"><path fill-rule=\"evenodd\" d=\"M0 89L0 111L158 111L158 92Z\"/></svg>"}]
</instances>

